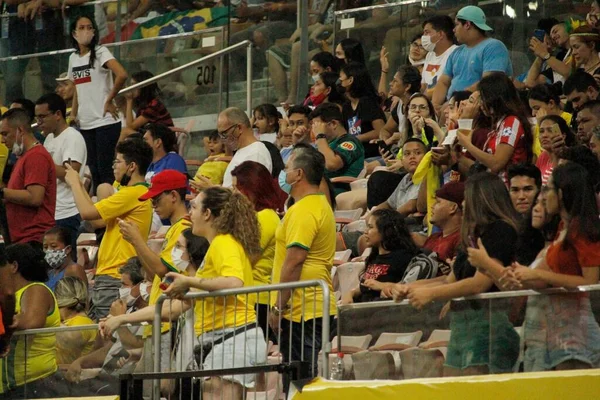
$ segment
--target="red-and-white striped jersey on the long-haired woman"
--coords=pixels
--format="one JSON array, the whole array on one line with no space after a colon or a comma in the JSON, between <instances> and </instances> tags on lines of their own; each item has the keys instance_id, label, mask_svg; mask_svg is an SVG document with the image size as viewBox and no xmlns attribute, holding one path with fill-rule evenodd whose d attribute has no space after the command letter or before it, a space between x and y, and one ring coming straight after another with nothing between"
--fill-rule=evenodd
<instances>
[{"instance_id":1,"label":"red-and-white striped jersey on the long-haired woman","mask_svg":"<svg viewBox=\"0 0 600 400\"><path fill-rule=\"evenodd\" d=\"M507 144L514 148L514 152L508 164L506 164L506 168L511 164L527 162L527 145L523 136L525 136L525 130L521 121L513 115L508 116L498 123L496 130L490 132L484 151L489 154L496 154L499 144ZM500 174L504 182L508 182L506 168Z\"/></svg>"}]
</instances>

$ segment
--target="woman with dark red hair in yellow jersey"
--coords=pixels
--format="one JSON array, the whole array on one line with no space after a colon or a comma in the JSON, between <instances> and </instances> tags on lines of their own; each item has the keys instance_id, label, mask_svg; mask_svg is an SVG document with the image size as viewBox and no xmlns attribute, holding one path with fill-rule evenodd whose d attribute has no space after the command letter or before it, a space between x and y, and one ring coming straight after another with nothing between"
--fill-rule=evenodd
<instances>
[{"instance_id":1,"label":"woman with dark red hair in yellow jersey","mask_svg":"<svg viewBox=\"0 0 600 400\"><path fill-rule=\"evenodd\" d=\"M245 161L231 171L233 187L246 196L254 205L260 226L261 255L252 266L254 285L265 286L271 283L273 258L275 257L275 231L281 222L276 210L282 210L283 193L269 170L254 161ZM274 300L274 299L273 299ZM274 343L276 336L269 328L269 293L259 293L254 309L258 323L265 334Z\"/></svg>"}]
</instances>

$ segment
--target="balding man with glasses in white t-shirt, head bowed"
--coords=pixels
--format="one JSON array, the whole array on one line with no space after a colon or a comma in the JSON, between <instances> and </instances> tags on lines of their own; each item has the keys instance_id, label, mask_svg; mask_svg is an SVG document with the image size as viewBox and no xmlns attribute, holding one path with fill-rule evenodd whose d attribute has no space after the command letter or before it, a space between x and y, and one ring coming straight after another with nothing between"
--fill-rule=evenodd
<instances>
[{"instance_id":1,"label":"balding man with glasses in white t-shirt, head bowed","mask_svg":"<svg viewBox=\"0 0 600 400\"><path fill-rule=\"evenodd\" d=\"M244 111L236 107L223 110L217 118L217 132L225 146L235 152L225 170L223 187L230 188L232 186L231 171L244 161L255 161L264 165L269 172L272 171L271 154L267 146L254 137L250 119ZM202 186L209 185L206 183L205 185L195 184L194 186L202 188Z\"/></svg>"}]
</instances>

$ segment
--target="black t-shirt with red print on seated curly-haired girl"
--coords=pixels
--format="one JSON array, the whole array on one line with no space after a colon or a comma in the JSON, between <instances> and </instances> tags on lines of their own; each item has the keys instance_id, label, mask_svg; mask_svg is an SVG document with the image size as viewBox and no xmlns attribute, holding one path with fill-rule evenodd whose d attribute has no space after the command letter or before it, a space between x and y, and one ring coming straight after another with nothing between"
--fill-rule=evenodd
<instances>
[{"instance_id":1,"label":"black t-shirt with red print on seated curly-haired girl","mask_svg":"<svg viewBox=\"0 0 600 400\"><path fill-rule=\"evenodd\" d=\"M360 277L360 297L357 299L357 302L373 301L380 298L380 292L362 285L365 280L375 279L379 282L400 282L404 276L406 267L408 267L410 260L414 256L415 254L401 249L375 257L375 260L367 265L365 272Z\"/></svg>"}]
</instances>

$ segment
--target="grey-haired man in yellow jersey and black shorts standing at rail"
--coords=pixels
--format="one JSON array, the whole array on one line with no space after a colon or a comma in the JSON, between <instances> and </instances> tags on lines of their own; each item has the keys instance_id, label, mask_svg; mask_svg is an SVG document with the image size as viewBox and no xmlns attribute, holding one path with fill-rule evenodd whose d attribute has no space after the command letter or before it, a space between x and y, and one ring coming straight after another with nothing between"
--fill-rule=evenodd
<instances>
[{"instance_id":1,"label":"grey-haired man in yellow jersey and black shorts standing at rail","mask_svg":"<svg viewBox=\"0 0 600 400\"><path fill-rule=\"evenodd\" d=\"M319 193L324 172L323 154L310 146L296 146L286 169L279 175L281 189L294 198L295 204L288 209L275 233L274 283L321 279L333 293L335 218L326 196ZM334 315L333 296L329 307ZM322 317L321 289L295 290L293 294L280 292L271 307L271 327L275 331L281 327L279 345L283 359L312 363L314 376L321 350Z\"/></svg>"}]
</instances>

